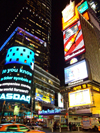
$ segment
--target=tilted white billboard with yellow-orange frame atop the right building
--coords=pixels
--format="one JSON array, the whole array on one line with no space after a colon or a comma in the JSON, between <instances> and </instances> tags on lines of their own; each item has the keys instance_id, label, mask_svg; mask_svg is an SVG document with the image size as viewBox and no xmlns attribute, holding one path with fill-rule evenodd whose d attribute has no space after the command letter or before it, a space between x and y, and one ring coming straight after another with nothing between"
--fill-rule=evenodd
<instances>
[{"instance_id":1,"label":"tilted white billboard with yellow-orange frame atop the right building","mask_svg":"<svg viewBox=\"0 0 100 133\"><path fill-rule=\"evenodd\" d=\"M75 2L73 1L62 11L62 30L65 30L78 19L78 9L77 6L75 6Z\"/></svg>"}]
</instances>

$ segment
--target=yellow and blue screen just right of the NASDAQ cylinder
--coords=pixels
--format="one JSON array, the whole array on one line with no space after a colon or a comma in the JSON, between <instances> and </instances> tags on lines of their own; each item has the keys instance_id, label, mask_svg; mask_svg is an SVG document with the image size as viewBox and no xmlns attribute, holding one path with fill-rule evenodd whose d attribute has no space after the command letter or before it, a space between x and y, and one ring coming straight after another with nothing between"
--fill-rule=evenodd
<instances>
[{"instance_id":1,"label":"yellow and blue screen just right of the NASDAQ cylinder","mask_svg":"<svg viewBox=\"0 0 100 133\"><path fill-rule=\"evenodd\" d=\"M36 88L35 100L55 104L54 94L51 94L49 92L45 92L45 91L38 89L38 88Z\"/></svg>"}]
</instances>

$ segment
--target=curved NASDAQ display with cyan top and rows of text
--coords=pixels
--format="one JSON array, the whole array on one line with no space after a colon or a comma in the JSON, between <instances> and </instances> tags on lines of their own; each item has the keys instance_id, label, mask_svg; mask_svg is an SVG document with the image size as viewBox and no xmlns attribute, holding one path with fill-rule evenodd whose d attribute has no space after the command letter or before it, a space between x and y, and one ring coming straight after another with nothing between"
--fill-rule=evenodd
<instances>
[{"instance_id":1,"label":"curved NASDAQ display with cyan top and rows of text","mask_svg":"<svg viewBox=\"0 0 100 133\"><path fill-rule=\"evenodd\" d=\"M0 101L30 103L33 84L34 52L26 47L8 49L0 78Z\"/></svg>"}]
</instances>

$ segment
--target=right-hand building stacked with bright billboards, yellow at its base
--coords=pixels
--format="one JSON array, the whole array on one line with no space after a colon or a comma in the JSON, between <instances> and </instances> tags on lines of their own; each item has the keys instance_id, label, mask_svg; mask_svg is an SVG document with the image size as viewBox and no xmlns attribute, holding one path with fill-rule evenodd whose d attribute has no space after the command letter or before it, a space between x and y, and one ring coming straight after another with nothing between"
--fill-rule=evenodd
<instances>
[{"instance_id":1,"label":"right-hand building stacked with bright billboards, yellow at its base","mask_svg":"<svg viewBox=\"0 0 100 133\"><path fill-rule=\"evenodd\" d=\"M66 45L67 48L69 48L69 51L65 52L67 54L69 52L66 56L70 57L70 59L67 58L65 60L65 83L64 86L61 87L60 92L63 94L65 101L67 101L66 108L69 113L69 116L67 116L68 121L71 121L81 128L83 128L81 121L84 120L84 118L87 120L91 119L93 121L97 118L98 123L100 121L100 106L98 104L98 102L100 102L100 27L99 20L96 17L95 12L90 6L86 6L86 3L87 1L81 1L77 6L75 6L79 16L75 14L72 18L65 22L64 19L62 19L63 33L66 33L63 34L64 46ZM70 5L71 4L68 6ZM66 6L63 13L67 13L67 11ZM77 33L79 27L75 27L76 31L72 28L77 21L80 21L82 29L82 39L84 41L85 48L83 53L79 52L80 47L82 47L82 43L78 40L80 34L73 41L73 44L68 43L70 40L74 39L74 36ZM78 46L77 50L74 49L74 46L75 48ZM86 65L83 67L82 64L80 67L79 65L83 61L85 61ZM81 77L85 73L85 77ZM96 125L96 128L98 129L99 126Z\"/></svg>"}]
</instances>

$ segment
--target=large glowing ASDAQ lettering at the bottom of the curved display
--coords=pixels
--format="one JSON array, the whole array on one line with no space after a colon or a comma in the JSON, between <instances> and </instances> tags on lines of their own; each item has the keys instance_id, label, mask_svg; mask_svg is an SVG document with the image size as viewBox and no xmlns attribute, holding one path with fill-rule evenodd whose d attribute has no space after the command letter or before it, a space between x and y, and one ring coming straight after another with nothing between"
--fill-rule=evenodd
<instances>
[{"instance_id":1,"label":"large glowing ASDAQ lettering at the bottom of the curved display","mask_svg":"<svg viewBox=\"0 0 100 133\"><path fill-rule=\"evenodd\" d=\"M30 96L25 96L21 94L15 94L15 93L2 93L0 94L0 100L20 100L24 102L30 103Z\"/></svg>"}]
</instances>

